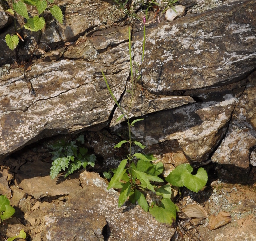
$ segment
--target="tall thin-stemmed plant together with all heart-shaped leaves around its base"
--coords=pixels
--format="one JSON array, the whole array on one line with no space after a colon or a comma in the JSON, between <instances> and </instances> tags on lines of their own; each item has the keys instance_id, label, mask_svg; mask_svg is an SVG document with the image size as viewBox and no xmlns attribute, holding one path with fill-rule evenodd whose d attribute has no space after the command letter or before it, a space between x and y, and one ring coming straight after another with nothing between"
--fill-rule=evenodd
<instances>
[{"instance_id":1,"label":"tall thin-stemmed plant together with all heart-shaped leaves around its base","mask_svg":"<svg viewBox=\"0 0 256 241\"><path fill-rule=\"evenodd\" d=\"M144 58L144 49L145 49L145 17L142 19L144 23L144 39L142 47L142 62ZM164 180L159 177L163 172L163 163L153 163L156 158L152 154L144 153L132 153L132 145L136 145L141 149L144 149L145 146L138 142L132 140L131 127L138 121L144 119L130 120L130 110L132 99L134 97L137 81L141 78L141 64L135 63L136 71L135 78L133 77L132 69L132 57L131 57L131 33L129 29L129 53L130 53L130 71L131 71L131 84L132 89L127 92L131 94L130 106L128 111L125 111L121 105L118 103L114 94L112 93L107 79L102 71L103 78L106 82L107 88L116 103L117 107L121 110L122 115L117 118L121 120L125 118L128 124L128 140L122 140L114 148L119 148L123 144L128 144L129 154L126 159L122 160L118 168L113 170L113 177L111 178L107 189L115 188L121 189L120 196L118 199L118 206L121 207L125 201L128 199L131 203L137 203L140 205L146 212L149 211L157 221L165 223L166 225L172 225L173 221L176 219L176 212L178 211L177 206L172 202L171 194L171 185L174 186L186 186L194 192L198 192L204 187L207 182L207 173L203 168L199 168L195 176L190 174L193 171L193 168L189 164L183 164L178 166L169 176L165 179L167 184L160 185ZM110 178L110 173L105 172L105 177ZM148 192L153 192L157 196L157 200L151 202L149 205L145 195Z\"/></svg>"}]
</instances>

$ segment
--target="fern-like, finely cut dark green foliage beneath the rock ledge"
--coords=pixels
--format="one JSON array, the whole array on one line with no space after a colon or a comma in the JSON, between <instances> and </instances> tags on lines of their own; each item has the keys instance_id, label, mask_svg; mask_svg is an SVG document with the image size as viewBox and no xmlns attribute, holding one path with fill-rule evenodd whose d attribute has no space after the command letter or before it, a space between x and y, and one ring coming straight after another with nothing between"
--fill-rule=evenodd
<instances>
[{"instance_id":1,"label":"fern-like, finely cut dark green foliage beneath the rock ledge","mask_svg":"<svg viewBox=\"0 0 256 241\"><path fill-rule=\"evenodd\" d=\"M62 139L49 146L53 150L51 179L56 178L61 171L66 170L66 178L80 167L86 168L87 165L94 167L96 156L88 154L88 149L80 147L81 144L84 144L83 135L72 141Z\"/></svg>"}]
</instances>

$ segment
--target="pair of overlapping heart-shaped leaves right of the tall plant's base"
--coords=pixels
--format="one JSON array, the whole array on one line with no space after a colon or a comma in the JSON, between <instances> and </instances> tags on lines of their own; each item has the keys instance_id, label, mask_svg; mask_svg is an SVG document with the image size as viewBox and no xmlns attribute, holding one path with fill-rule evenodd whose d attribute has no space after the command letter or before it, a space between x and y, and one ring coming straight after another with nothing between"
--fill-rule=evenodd
<instances>
[{"instance_id":1,"label":"pair of overlapping heart-shaped leaves right of the tall plant's base","mask_svg":"<svg viewBox=\"0 0 256 241\"><path fill-rule=\"evenodd\" d=\"M193 167L189 164L181 164L177 166L165 180L174 186L185 186L193 192L199 192L205 185L208 179L207 172L200 167L196 175L192 175Z\"/></svg>"}]
</instances>

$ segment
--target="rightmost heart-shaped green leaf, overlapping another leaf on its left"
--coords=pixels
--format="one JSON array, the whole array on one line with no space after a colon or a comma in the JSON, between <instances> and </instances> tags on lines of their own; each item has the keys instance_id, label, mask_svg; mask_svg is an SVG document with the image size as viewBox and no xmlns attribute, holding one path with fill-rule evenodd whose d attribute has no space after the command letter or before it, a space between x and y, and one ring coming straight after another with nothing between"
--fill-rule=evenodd
<instances>
[{"instance_id":1,"label":"rightmost heart-shaped green leaf, overlapping another leaf on its left","mask_svg":"<svg viewBox=\"0 0 256 241\"><path fill-rule=\"evenodd\" d=\"M208 175L204 168L200 167L196 175L188 170L181 173L181 180L186 188L193 192L199 192L207 183Z\"/></svg>"}]
</instances>

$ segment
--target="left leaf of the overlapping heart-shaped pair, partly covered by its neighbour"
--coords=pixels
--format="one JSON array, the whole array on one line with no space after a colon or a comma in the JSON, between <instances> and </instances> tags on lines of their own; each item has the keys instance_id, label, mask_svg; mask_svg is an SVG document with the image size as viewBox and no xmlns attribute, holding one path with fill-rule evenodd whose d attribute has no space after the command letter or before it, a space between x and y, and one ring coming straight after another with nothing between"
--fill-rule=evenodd
<instances>
[{"instance_id":1,"label":"left leaf of the overlapping heart-shaped pair, partly covered by its neighbour","mask_svg":"<svg viewBox=\"0 0 256 241\"><path fill-rule=\"evenodd\" d=\"M183 163L177 166L174 170L172 170L170 174L165 178L165 180L172 184L173 186L184 186L183 181L181 179L181 174L184 170L187 170L189 173L191 173L193 171L193 168L189 164Z\"/></svg>"}]
</instances>

